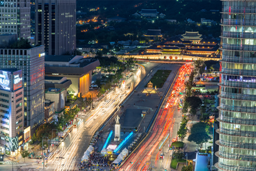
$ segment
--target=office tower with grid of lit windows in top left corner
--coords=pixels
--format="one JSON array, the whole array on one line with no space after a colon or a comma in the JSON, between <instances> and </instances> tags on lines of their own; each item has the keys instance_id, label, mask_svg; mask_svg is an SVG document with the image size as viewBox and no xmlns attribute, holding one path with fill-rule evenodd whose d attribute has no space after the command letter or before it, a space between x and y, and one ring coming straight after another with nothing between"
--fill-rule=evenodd
<instances>
[{"instance_id":1,"label":"office tower with grid of lit windows in top left corner","mask_svg":"<svg viewBox=\"0 0 256 171\"><path fill-rule=\"evenodd\" d=\"M0 0L0 34L30 40L30 0Z\"/></svg>"}]
</instances>

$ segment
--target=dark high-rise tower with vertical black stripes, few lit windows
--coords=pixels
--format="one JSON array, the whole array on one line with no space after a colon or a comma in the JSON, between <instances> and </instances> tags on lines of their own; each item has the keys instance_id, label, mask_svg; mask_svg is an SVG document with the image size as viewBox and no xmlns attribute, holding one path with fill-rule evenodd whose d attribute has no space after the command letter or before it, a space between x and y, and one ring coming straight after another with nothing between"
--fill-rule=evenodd
<instances>
[{"instance_id":1,"label":"dark high-rise tower with vertical black stripes, few lit windows","mask_svg":"<svg viewBox=\"0 0 256 171\"><path fill-rule=\"evenodd\" d=\"M76 0L36 0L36 44L46 55L71 55L76 49Z\"/></svg>"}]
</instances>

